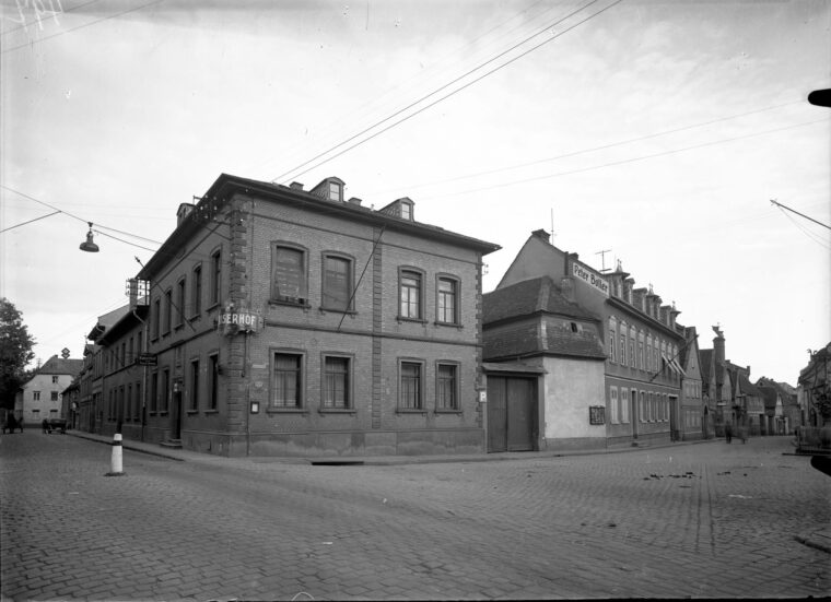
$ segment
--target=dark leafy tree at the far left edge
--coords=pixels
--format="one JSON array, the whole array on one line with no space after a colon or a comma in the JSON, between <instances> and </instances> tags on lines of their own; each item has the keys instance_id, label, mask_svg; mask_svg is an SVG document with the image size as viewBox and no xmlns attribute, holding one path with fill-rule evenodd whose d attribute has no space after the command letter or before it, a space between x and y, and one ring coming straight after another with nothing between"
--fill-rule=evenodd
<instances>
[{"instance_id":1,"label":"dark leafy tree at the far left edge","mask_svg":"<svg viewBox=\"0 0 831 602\"><path fill-rule=\"evenodd\" d=\"M9 299L0 298L0 406L14 409L14 394L26 381L26 365L35 356L34 344L23 315Z\"/></svg>"}]
</instances>

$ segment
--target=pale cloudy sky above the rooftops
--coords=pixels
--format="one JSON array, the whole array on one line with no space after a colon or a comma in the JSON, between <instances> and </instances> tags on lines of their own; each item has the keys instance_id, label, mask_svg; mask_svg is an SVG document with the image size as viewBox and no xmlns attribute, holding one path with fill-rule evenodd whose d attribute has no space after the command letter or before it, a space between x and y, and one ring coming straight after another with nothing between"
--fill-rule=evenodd
<instances>
[{"instance_id":1,"label":"pale cloudy sky above the rooftops","mask_svg":"<svg viewBox=\"0 0 831 602\"><path fill-rule=\"evenodd\" d=\"M553 232L753 381L831 341L831 2L198 4L0 0L0 295L42 362L222 173L409 197L502 247L483 292Z\"/></svg>"}]
</instances>

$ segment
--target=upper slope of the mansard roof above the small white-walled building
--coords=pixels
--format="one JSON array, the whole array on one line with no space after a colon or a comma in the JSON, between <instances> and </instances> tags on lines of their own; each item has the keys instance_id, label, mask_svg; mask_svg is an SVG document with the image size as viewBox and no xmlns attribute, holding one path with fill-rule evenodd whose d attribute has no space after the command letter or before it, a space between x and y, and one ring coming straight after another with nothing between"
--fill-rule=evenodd
<instances>
[{"instance_id":1,"label":"upper slope of the mansard roof above the small white-walled building","mask_svg":"<svg viewBox=\"0 0 831 602\"><path fill-rule=\"evenodd\" d=\"M504 288L496 288L483 296L482 305L483 324L530 316L538 311L581 320L598 320L597 316L565 298L550 276L525 280Z\"/></svg>"}]
</instances>

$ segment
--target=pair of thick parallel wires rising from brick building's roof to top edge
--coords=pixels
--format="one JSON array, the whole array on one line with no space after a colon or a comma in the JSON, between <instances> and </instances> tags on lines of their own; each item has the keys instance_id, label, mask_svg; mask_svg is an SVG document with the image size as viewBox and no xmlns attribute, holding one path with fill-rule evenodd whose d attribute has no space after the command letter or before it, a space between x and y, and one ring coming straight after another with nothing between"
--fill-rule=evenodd
<instances>
[{"instance_id":1,"label":"pair of thick parallel wires rising from brick building's roof to top edge","mask_svg":"<svg viewBox=\"0 0 831 602\"><path fill-rule=\"evenodd\" d=\"M442 90L445 90L446 87L448 87L448 86L453 85L454 83L457 83L457 82L459 82L459 81L460 81L460 80L463 80L464 78L466 78L466 76L468 76L468 75L472 74L473 72L478 71L478 70L479 70L479 69L481 69L482 67L484 67L484 66L487 66L487 64L489 64L489 63L493 62L494 60L496 60L496 59L499 59L499 58L503 57L503 56L504 56L504 55L506 55L507 52L510 52L510 51L512 51L512 50L514 50L514 49L518 48L519 46L522 46L523 44L525 44L525 43L529 42L530 39L534 39L535 37L538 37L539 35L541 35L542 33L545 33L545 32L548 32L549 29L551 29L551 28L552 28L552 27L554 27L555 25L559 25L560 23L562 23L562 22L563 22L563 21L565 21L566 19L570 19L571 16L574 16L575 14L577 14L577 13L578 13L578 12L581 12L581 11L583 11L585 8L587 8L587 7L590 7L592 4L594 4L594 3L595 3L595 2L597 2L597 1L598 1L598 0L592 0L592 1L590 1L590 2L588 2L587 4L585 4L585 5L581 7L580 9L577 9L577 10L575 10L575 11L573 11L573 12L569 13L567 15L565 15L565 16L563 16L563 17L561 17L561 19L559 19L557 22L554 22L554 23L552 23L552 24L550 24L550 25L547 25L547 26L546 26L543 29L541 29L541 31L537 32L536 34L534 34L534 35L531 35L531 36L529 36L529 37L527 37L527 38L526 38L526 39L524 39L523 42L520 42L520 43L518 43L518 44L516 44L516 45L512 46L512 47L511 47L511 48L508 48L507 50L504 50L503 52L500 52L498 56L495 56L495 57L493 57L493 58L489 59L488 61L485 61L485 62L483 62L483 63L479 64L478 67L476 67L476 68L473 68L473 69L471 69L471 70L467 71L465 74L463 74L463 75L459 75L458 78L456 78L456 79L455 79L455 80L453 80L452 82L448 82L447 84L445 84L445 85L441 86L440 88L437 88L437 90L435 90L435 91L431 92L430 94L426 94L425 96L422 96L421 98L419 98L418 101L415 101L415 102L411 103L411 104L410 104L410 105L408 105L407 107L405 107L405 108L402 108L402 109L399 109L398 111L394 113L393 115L390 115L390 116L388 116L388 117L386 117L386 118L382 119L381 121L378 121L378 122L374 123L373 126L370 126L368 128L365 128L364 130L362 130L362 131L360 131L359 133L356 133L356 134L354 134L354 135L350 137L349 139L344 140L343 142L340 142L339 144L337 144L337 145L335 145L335 146L331 146L331 147L330 147L330 149L328 149L327 151L325 151L325 152L323 152L323 153L319 153L319 154L317 154L315 157L313 157L313 158L311 158L311 160L308 160L308 161L306 161L306 162L304 162L304 163L302 163L302 164L300 164L300 165L297 165L297 166L293 167L292 169L289 169L288 172L284 172L283 174L281 174L281 175L279 175L279 176L277 176L276 178L273 178L271 181L272 181L272 182L276 182L276 181L278 181L278 180L288 181L288 180L284 180L284 178L285 178L286 176L289 176L289 175L292 175L292 174L293 174L293 175L292 175L292 178L296 178L296 177L299 177L299 176L302 176L303 174L305 174L305 173L307 173L307 172L311 172L312 169L315 169L315 168L317 168L317 167L319 167L319 166L321 166L321 165L324 165L324 164L326 164L326 163L328 163L328 162L332 161L333 158L337 158L337 157L341 156L342 154L344 154L344 153L347 153L347 152L349 152L349 151L351 151L351 150L353 150L353 149L355 149L355 147L360 146L361 144L364 144L364 143L368 142L370 140L373 140L374 138L376 138L376 137L381 135L382 133L384 133L384 132L386 132L386 131L388 131L388 130L393 129L394 127L396 127L396 126L399 126L400 123L403 123L405 121L408 121L409 119L412 119L412 118L413 118L413 117L415 117L417 115L420 115L421 113L425 111L426 109L429 109L429 108L431 108L431 107L433 107L433 106L437 105L437 104L438 104L438 103L441 103L442 101L445 101L445 99L449 98L450 96L455 96L455 95L456 95L456 94L458 94L459 92L461 92L461 91L464 91L464 90L466 90L466 88L470 87L470 86L471 86L471 85L473 85L475 83L477 83L477 82L479 82L479 81L483 80L484 78L487 78L487 76L489 76L489 75L491 75L491 74L495 73L496 71L500 71L501 69L504 69L505 67L507 67L507 66L512 64L513 62L515 62L515 61L519 60L520 58L523 58L523 57L525 57L525 56L529 55L530 52L532 52L532 51L535 51L535 50L537 50L538 48L541 48L541 47L542 47L542 46L545 46L546 44L549 44L549 43L553 42L554 39L558 39L559 37L561 37L561 36L563 36L564 34L566 34L566 33L571 32L572 29L574 29L575 27L577 27L577 26L582 25L583 23L586 23L587 21L590 21L592 19L594 19L594 17L596 17L596 16L600 15L601 13L604 13L604 12L606 12L607 10L611 9L611 8L612 8L612 7L615 7L616 4L619 4L619 3L620 3L620 2L622 2L623 0L615 0L612 3L610 3L609 5L607 5L607 7L602 8L602 9L600 9L600 10L599 10L599 11L597 11L596 13L588 15L587 17L583 19L582 21L578 21L577 23L575 23L574 25L571 25L570 27L565 28L565 29L564 29L564 31L562 31L562 32L559 32L559 33L557 33L557 34L551 34L551 37L550 37L550 38L548 38L548 39L546 39L546 40L541 42L540 44L537 44L536 46L532 46L531 48L529 48L528 50L525 50L524 52L520 52L520 54L519 54L519 55L517 55L516 57L513 57L513 58L511 58L511 59L510 59L510 60L507 60L506 62L504 62L504 63L502 63L502 64L500 64L500 66L495 67L494 69L491 69L490 71L485 72L484 74L482 74L482 75L480 75L480 76L476 78L475 80L472 80L472 81L470 81L470 82L468 82L468 83L466 83L466 84L461 85L460 87L458 87L458 88L456 88L456 90L452 91L450 93L448 93L448 94L446 94L446 95L442 96L441 98L438 98L438 99L436 99L436 101L433 101L432 103L428 104L426 106L423 106L423 107L419 108L418 110L415 110L415 111L411 113L410 115L407 115L407 116L402 117L401 119L398 119L398 120L396 120L394 123L391 123L391 125L389 125L389 126L387 126L387 127L383 128L382 130L379 130L379 131L377 131L377 132L373 133L372 135L370 135L370 137L367 137L367 138L365 138L365 139L363 139L363 140L360 140L359 142L356 142L356 143L354 143L354 144L352 144L352 145L348 146L347 149L343 149L342 151L340 151L340 152L338 152L338 153L333 154L332 156L330 156L330 157L328 157L328 158L326 158L326 160L324 160L324 161L321 161L321 162L319 162L319 163L316 163L315 165L312 165L311 167L307 167L307 168L305 168L305 169L303 169L303 170L301 170L301 172L297 172L299 169L301 169L301 168L305 167L306 165L308 165L309 163L312 163L312 162L316 161L317 158L320 158L320 157L323 157L323 156L325 156L325 155L327 155L327 154L329 154L329 153L333 152L335 150L337 150L337 149L340 149L340 147L341 147L341 146L343 146L344 144L348 144L349 142L351 142L351 141L353 141L353 140L358 139L359 137L363 135L364 133L367 133L368 131L371 131L371 130L375 129L376 127L378 127L378 126L381 126L381 125L383 125L383 123L386 123L386 122L387 122L387 121L389 121L390 119L393 119L393 118L395 118L395 117L397 117L397 116L401 115L403 111L406 111L406 110L408 110L408 109L412 108L413 106L418 105L419 103L421 103L421 102L423 102L423 101L425 101L425 99L430 98L431 96L434 96L436 93L441 92ZM290 179L291 179L291 178L290 178Z\"/></svg>"}]
</instances>

